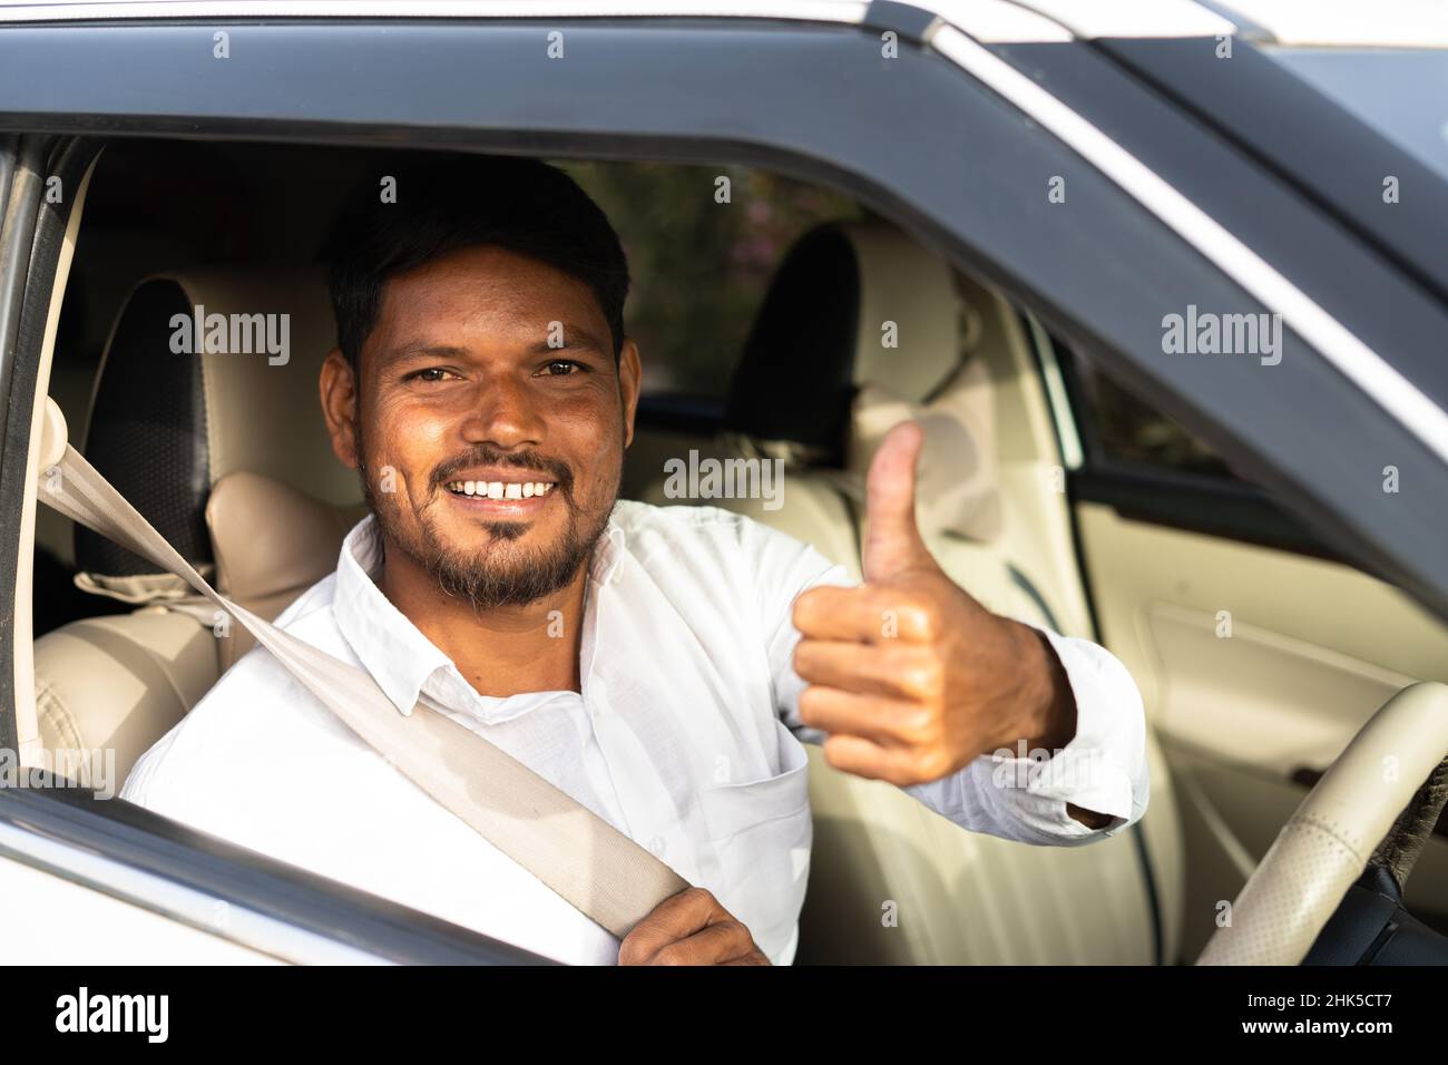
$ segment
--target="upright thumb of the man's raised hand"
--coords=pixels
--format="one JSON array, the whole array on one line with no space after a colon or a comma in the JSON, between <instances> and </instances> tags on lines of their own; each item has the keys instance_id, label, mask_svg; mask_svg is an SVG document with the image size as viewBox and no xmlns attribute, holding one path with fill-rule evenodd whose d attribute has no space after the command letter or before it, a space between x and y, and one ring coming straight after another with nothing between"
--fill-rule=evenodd
<instances>
[{"instance_id":1,"label":"upright thumb of the man's raised hand","mask_svg":"<svg viewBox=\"0 0 1448 1065\"><path fill-rule=\"evenodd\" d=\"M864 580L888 581L911 569L935 568L915 526L915 462L925 442L914 422L885 435L864 484Z\"/></svg>"}]
</instances>

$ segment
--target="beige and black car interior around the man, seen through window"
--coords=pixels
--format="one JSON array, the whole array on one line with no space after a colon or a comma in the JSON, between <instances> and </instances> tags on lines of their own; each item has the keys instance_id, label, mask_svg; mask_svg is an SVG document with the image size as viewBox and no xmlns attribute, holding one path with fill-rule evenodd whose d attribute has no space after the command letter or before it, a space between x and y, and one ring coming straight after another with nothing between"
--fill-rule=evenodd
<instances>
[{"instance_id":1,"label":"beige and black car interior around the man, seen through window","mask_svg":"<svg viewBox=\"0 0 1448 1065\"><path fill-rule=\"evenodd\" d=\"M117 141L80 223L49 387L71 440L265 619L332 572L365 514L319 410L334 326L317 252L340 193L372 165L363 149ZM670 498L665 462L695 451L778 458L778 509L696 503L859 574L864 469L882 426L912 416L927 439L921 532L941 567L992 610L1098 639L1145 700L1150 809L1090 846L964 832L811 746L796 964L1192 961L1313 774L1394 691L1448 681L1448 627L1347 559L1076 491L1082 471L1122 467L1154 471L1163 497L1238 483L1129 383L891 219L741 167L560 165L636 272L627 319L646 388L623 497L691 503ZM195 307L290 314L288 361L172 354L171 317ZM216 632L180 578L48 509L35 540L39 735L114 748L125 780L251 638ZM1406 901L1448 933L1442 824Z\"/></svg>"}]
</instances>

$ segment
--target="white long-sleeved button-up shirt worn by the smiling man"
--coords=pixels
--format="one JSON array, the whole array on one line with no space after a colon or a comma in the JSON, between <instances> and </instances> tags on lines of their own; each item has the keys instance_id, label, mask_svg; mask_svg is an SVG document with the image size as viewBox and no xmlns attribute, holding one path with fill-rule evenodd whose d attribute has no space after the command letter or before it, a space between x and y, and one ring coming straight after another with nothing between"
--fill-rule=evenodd
<instances>
[{"instance_id":1,"label":"white long-sleeved button-up shirt worn by the smiling man","mask_svg":"<svg viewBox=\"0 0 1448 1065\"><path fill-rule=\"evenodd\" d=\"M620 501L589 564L582 693L489 698L374 582L372 522L277 625L368 669L400 713L421 698L523 761L712 891L772 962L791 962L812 840L801 740L822 739L798 717L791 607L809 585L850 584L846 571L738 514ZM1076 696L1076 738L1034 774L1027 759L982 755L906 788L963 829L1079 843L1145 810L1135 684L1103 648L1047 636ZM618 961L617 939L429 798L259 646L142 756L122 797L549 958ZM1067 800L1114 820L1087 829Z\"/></svg>"}]
</instances>

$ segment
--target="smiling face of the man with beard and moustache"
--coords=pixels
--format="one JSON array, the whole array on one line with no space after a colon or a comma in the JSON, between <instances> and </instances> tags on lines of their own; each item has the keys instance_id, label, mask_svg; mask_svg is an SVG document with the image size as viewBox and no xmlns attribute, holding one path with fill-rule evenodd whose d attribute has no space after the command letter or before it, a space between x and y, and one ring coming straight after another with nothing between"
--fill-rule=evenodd
<instances>
[{"instance_id":1,"label":"smiling face of the man with beard and moustache","mask_svg":"<svg viewBox=\"0 0 1448 1065\"><path fill-rule=\"evenodd\" d=\"M628 341L615 364L582 281L466 248L391 278L358 377L333 352L321 393L388 549L492 609L586 562L633 439L639 355Z\"/></svg>"}]
</instances>

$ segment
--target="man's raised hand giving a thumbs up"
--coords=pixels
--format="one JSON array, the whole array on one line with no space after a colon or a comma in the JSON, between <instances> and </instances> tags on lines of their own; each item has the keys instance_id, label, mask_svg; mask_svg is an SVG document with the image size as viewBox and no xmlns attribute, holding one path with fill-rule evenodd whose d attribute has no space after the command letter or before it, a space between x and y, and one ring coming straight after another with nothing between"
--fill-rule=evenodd
<instances>
[{"instance_id":1,"label":"man's raised hand giving a thumbs up","mask_svg":"<svg viewBox=\"0 0 1448 1065\"><path fill-rule=\"evenodd\" d=\"M924 435L895 426L870 464L864 584L795 600L805 724L830 765L899 787L947 777L1025 739L1054 751L1076 703L1050 643L986 610L935 564L915 526Z\"/></svg>"}]
</instances>

